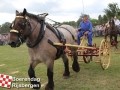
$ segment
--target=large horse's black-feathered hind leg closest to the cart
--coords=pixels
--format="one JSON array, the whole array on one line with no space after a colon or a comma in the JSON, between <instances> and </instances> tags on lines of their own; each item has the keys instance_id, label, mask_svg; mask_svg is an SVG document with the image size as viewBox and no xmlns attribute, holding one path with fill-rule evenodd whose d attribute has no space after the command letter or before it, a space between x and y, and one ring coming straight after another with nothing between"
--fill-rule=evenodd
<instances>
[{"instance_id":1,"label":"large horse's black-feathered hind leg closest to the cart","mask_svg":"<svg viewBox=\"0 0 120 90\"><path fill-rule=\"evenodd\" d=\"M72 68L73 68L73 70L75 72L79 72L80 71L77 52L73 52L73 64L72 64Z\"/></svg>"}]
</instances>

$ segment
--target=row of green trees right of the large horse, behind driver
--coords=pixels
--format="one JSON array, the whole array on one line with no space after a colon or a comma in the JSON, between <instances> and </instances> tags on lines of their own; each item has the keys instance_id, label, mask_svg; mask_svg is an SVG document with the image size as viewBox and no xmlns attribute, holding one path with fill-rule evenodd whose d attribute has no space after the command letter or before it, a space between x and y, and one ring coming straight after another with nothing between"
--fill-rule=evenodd
<instances>
[{"instance_id":1,"label":"row of green trees right of the large horse, behind driver","mask_svg":"<svg viewBox=\"0 0 120 90\"><path fill-rule=\"evenodd\" d=\"M80 21L82 21L83 15L84 14L81 14L77 21L69 21L69 22L63 22L63 23L72 25L74 27L78 27ZM107 8L104 9L104 15L99 15L98 19L90 18L89 16L93 26L105 24L112 17L117 17L118 19L120 19L120 8L118 7L117 3L109 3Z\"/></svg>"}]
</instances>

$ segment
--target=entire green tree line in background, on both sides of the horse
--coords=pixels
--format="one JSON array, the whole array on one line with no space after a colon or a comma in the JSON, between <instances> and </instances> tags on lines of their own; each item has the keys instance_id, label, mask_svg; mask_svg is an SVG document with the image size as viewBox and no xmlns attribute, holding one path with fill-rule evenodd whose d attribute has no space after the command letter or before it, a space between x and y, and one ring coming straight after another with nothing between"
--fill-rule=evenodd
<instances>
[{"instance_id":1,"label":"entire green tree line in background, on both sides of the horse","mask_svg":"<svg viewBox=\"0 0 120 90\"><path fill-rule=\"evenodd\" d=\"M63 22L62 24L68 24L77 28L80 21L82 20L83 15L84 14L81 14L77 21ZM105 24L108 20L111 19L111 17L115 16L120 19L120 8L118 7L117 3L109 3L108 7L104 9L104 15L99 15L98 19L90 18L90 16L89 18L93 26L95 26ZM5 22L4 24L0 25L0 33L8 33L10 31L10 25L11 23L9 22Z\"/></svg>"}]
</instances>

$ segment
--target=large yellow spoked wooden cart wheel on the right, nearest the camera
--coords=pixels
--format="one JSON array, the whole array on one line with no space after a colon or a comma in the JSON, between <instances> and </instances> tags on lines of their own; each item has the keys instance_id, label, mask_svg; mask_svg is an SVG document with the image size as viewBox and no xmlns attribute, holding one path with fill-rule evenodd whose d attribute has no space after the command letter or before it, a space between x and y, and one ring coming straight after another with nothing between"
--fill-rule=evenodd
<instances>
[{"instance_id":1,"label":"large yellow spoked wooden cart wheel on the right, nearest the camera","mask_svg":"<svg viewBox=\"0 0 120 90\"><path fill-rule=\"evenodd\" d=\"M110 65L110 44L106 39L101 41L99 47L99 57L102 69L107 69Z\"/></svg>"}]
</instances>

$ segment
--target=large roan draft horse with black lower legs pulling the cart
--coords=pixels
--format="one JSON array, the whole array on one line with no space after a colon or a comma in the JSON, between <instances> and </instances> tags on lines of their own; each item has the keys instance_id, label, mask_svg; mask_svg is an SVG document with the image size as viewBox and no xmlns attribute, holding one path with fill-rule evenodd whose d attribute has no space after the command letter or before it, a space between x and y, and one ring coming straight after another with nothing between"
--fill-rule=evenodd
<instances>
[{"instance_id":1,"label":"large roan draft horse with black lower legs pulling the cart","mask_svg":"<svg viewBox=\"0 0 120 90\"><path fill-rule=\"evenodd\" d=\"M65 47L56 47L53 43L65 41L65 43L77 44L74 39L76 37L76 30L72 26L64 24L55 28L45 22L46 16L46 13L35 15L28 13L26 9L24 9L23 12L16 10L16 17L10 26L9 45L11 47L19 47L23 43L26 43L30 56L30 66L28 69L29 77L36 78L34 69L39 63L43 62L47 67L48 77L45 90L54 90L54 61L60 57L63 59L64 77L69 77L70 71L68 57L64 52ZM63 40L63 36L65 40ZM80 66L76 50L71 48L71 51L73 53L72 69L75 72L79 72ZM40 82L30 82L33 85L33 89L41 88ZM38 87L34 87L34 84L37 84Z\"/></svg>"}]
</instances>

